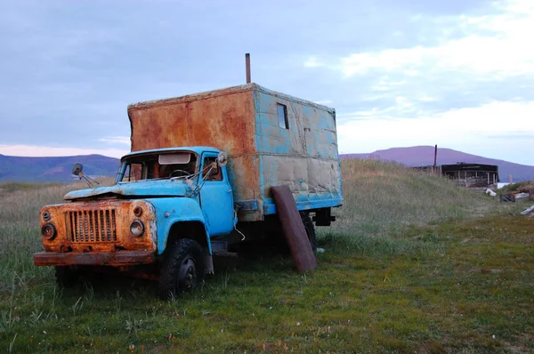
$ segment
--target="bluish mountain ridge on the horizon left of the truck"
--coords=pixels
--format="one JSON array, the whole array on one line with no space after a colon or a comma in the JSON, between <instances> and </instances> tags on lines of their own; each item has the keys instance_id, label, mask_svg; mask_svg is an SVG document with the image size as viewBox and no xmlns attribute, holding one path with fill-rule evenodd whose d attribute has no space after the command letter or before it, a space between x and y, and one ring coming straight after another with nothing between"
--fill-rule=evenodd
<instances>
[{"instance_id":1,"label":"bluish mountain ridge on the horizon left of the truck","mask_svg":"<svg viewBox=\"0 0 534 354\"><path fill-rule=\"evenodd\" d=\"M84 165L89 176L113 176L119 159L101 155L75 157L8 157L0 155L0 181L71 181L72 166Z\"/></svg>"}]
</instances>

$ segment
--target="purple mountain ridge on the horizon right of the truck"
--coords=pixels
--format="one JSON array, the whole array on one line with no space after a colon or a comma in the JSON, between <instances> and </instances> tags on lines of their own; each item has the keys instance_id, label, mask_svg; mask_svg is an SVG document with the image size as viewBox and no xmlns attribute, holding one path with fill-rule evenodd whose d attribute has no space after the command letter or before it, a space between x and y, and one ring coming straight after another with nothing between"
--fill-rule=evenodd
<instances>
[{"instance_id":1,"label":"purple mountain ridge on the horizon right of the truck","mask_svg":"<svg viewBox=\"0 0 534 354\"><path fill-rule=\"evenodd\" d=\"M384 161L395 161L411 167L433 165L433 154L433 146L414 146L411 148L376 150L370 154L344 154L341 158L376 158ZM501 181L508 181L510 174L512 174L514 181L534 181L534 166L514 164L512 162L479 157L453 149L438 147L438 165L451 165L458 162L498 165L498 175Z\"/></svg>"}]
</instances>

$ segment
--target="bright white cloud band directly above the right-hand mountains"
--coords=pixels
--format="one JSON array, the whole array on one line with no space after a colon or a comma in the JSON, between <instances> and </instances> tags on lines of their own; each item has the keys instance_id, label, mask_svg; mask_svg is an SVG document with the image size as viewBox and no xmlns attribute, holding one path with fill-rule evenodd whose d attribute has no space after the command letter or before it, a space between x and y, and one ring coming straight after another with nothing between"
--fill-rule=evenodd
<instances>
[{"instance_id":1,"label":"bright white cloud band directly above the right-hand mountains","mask_svg":"<svg viewBox=\"0 0 534 354\"><path fill-rule=\"evenodd\" d=\"M525 139L534 135L533 111L534 102L495 101L478 108L451 109L417 119L345 119L338 123L339 149L343 153L372 152L384 149L384 141L389 147L438 144L483 157L534 165L534 156L530 154L532 143ZM514 124L510 124L511 120ZM495 136L496 131L500 136ZM361 151L361 146L368 150Z\"/></svg>"}]
</instances>

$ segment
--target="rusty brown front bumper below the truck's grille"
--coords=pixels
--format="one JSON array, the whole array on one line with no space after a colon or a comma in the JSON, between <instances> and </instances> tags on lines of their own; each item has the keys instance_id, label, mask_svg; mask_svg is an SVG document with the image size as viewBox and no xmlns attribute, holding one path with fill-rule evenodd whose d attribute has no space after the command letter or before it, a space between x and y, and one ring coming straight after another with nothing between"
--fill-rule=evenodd
<instances>
[{"instance_id":1,"label":"rusty brown front bumper below the truck's grille","mask_svg":"<svg viewBox=\"0 0 534 354\"><path fill-rule=\"evenodd\" d=\"M39 252L34 253L36 266L127 266L150 264L156 261L154 251L117 251L117 252Z\"/></svg>"}]
</instances>

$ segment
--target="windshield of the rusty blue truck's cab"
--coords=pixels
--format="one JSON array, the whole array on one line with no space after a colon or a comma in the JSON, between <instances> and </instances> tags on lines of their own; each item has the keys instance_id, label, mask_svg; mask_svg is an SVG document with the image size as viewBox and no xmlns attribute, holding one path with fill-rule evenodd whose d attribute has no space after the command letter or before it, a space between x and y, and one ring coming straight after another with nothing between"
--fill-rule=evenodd
<instances>
[{"instance_id":1,"label":"windshield of the rusty blue truck's cab","mask_svg":"<svg viewBox=\"0 0 534 354\"><path fill-rule=\"evenodd\" d=\"M185 177L197 171L197 154L177 151L125 158L117 173L118 182Z\"/></svg>"}]
</instances>

